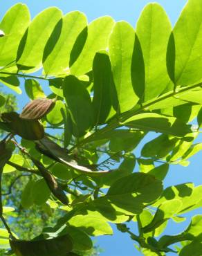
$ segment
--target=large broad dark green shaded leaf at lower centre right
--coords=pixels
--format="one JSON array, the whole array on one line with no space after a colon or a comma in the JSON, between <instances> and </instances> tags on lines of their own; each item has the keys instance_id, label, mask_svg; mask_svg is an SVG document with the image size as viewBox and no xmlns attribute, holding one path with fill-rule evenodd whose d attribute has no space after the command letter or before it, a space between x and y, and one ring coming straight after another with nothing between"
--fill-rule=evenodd
<instances>
[{"instance_id":1,"label":"large broad dark green shaded leaf at lower centre right","mask_svg":"<svg viewBox=\"0 0 202 256\"><path fill-rule=\"evenodd\" d=\"M120 212L127 210L128 214L142 212L144 203L151 203L160 196L163 190L161 181L149 174L134 173L115 181L107 196L100 198L100 203L115 205Z\"/></svg>"}]
</instances>

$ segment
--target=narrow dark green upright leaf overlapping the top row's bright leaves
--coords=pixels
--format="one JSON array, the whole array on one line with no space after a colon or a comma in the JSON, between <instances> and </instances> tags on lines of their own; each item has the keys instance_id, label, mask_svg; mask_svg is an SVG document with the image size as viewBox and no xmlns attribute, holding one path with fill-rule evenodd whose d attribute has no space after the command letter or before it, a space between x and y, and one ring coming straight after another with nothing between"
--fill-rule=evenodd
<instances>
[{"instance_id":1,"label":"narrow dark green upright leaf overlapping the top row's bright leaves","mask_svg":"<svg viewBox=\"0 0 202 256\"><path fill-rule=\"evenodd\" d=\"M93 60L93 112L95 125L103 125L111 109L111 63L107 52L100 51Z\"/></svg>"}]
</instances>

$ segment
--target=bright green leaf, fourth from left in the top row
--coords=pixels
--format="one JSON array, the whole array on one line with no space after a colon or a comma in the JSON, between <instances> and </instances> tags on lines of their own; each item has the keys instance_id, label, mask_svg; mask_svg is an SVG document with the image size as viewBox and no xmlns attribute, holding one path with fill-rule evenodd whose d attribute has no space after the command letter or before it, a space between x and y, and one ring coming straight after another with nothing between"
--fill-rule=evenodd
<instances>
[{"instance_id":1,"label":"bright green leaf, fourth from left in the top row","mask_svg":"<svg viewBox=\"0 0 202 256\"><path fill-rule=\"evenodd\" d=\"M107 48L113 24L113 19L105 16L92 21L87 30L84 28L71 51L71 74L79 76L91 71L95 53Z\"/></svg>"}]
</instances>

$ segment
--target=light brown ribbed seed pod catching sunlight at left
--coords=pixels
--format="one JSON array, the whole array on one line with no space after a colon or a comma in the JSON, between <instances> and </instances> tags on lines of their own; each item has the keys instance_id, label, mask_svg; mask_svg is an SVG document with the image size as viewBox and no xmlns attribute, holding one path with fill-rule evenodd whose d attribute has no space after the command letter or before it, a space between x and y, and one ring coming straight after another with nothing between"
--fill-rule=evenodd
<instances>
[{"instance_id":1,"label":"light brown ribbed seed pod catching sunlight at left","mask_svg":"<svg viewBox=\"0 0 202 256\"><path fill-rule=\"evenodd\" d=\"M43 118L55 106L55 101L50 99L36 99L32 100L21 112L20 118L28 120L36 120Z\"/></svg>"}]
</instances>

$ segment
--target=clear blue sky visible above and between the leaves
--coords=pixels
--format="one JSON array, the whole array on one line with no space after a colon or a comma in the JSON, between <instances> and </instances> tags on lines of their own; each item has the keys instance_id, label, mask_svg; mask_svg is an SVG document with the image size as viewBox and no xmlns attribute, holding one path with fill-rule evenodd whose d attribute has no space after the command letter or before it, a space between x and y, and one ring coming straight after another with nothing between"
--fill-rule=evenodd
<instances>
[{"instance_id":1,"label":"clear blue sky visible above and between the leaves","mask_svg":"<svg viewBox=\"0 0 202 256\"><path fill-rule=\"evenodd\" d=\"M0 0L0 18L3 17L6 10L10 8L15 3L18 3L17 0ZM136 26L136 21L140 15L141 10L151 1L148 0L24 0L21 3L26 3L30 9L32 17L35 17L37 13L41 12L45 8L50 6L57 6L60 8L64 14L72 10L80 10L86 14L89 21L96 19L103 15L110 15L116 21L125 20L128 21L132 26ZM159 0L156 1L160 3L163 8L165 8L169 19L172 22L172 25L176 23L178 16L180 15L183 6L187 1L185 0ZM9 89L6 89L10 92ZM18 95L17 98L20 100L20 108L23 107L25 102L28 101L25 94L24 98L21 95ZM148 140L148 137L144 139L143 143ZM197 141L202 141L202 136L199 136ZM141 143L141 145L143 145ZM136 149L136 156L139 156L140 148ZM165 179L165 187L169 185L176 185L179 183L185 182L194 182L195 185L200 185L201 183L201 156L199 153L196 156L193 156L190 160L191 163L188 167L182 166L172 166L170 167L169 174ZM165 232L167 234L176 234L181 232L187 224L190 222L190 216L193 214L202 213L201 210L192 211L191 214L185 214L187 221L176 224L169 223ZM131 230L136 230L136 223L131 223ZM101 253L102 256L139 256L142 255L134 248L134 241L129 238L129 235L123 234L116 231L114 228L113 236L104 236L96 238L98 244L101 248L104 248L104 253ZM172 256L176 255L173 253L168 253L167 255ZM191 255L190 255L191 256Z\"/></svg>"}]
</instances>

